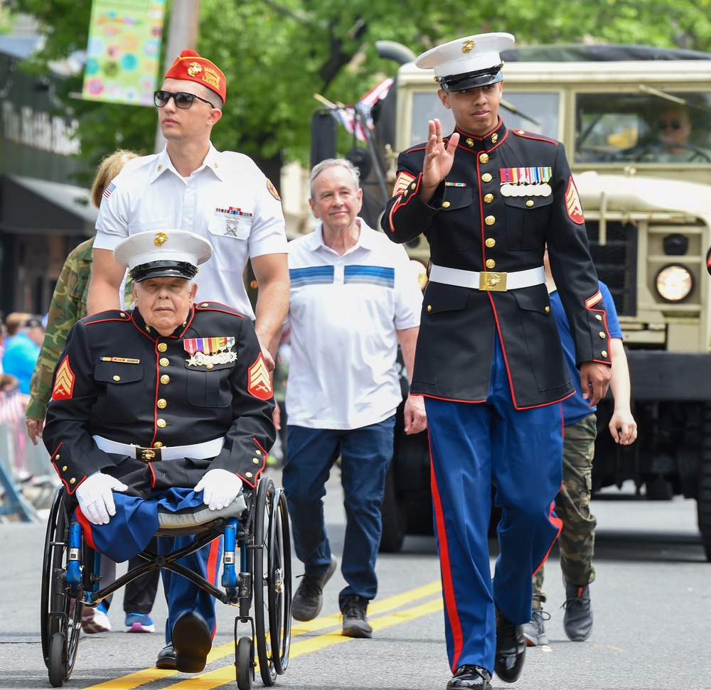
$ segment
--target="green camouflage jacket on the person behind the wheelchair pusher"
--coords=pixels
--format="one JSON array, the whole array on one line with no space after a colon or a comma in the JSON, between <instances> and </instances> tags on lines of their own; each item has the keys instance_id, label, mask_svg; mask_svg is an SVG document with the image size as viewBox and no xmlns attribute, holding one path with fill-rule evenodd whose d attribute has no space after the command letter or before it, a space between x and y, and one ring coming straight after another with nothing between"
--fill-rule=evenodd
<instances>
[{"instance_id":1,"label":"green camouflage jacket on the person behind the wheelchair pusher","mask_svg":"<svg viewBox=\"0 0 711 690\"><path fill-rule=\"evenodd\" d=\"M30 401L25 410L28 419L45 418L52 394L54 369L67 344L70 328L87 316L94 239L87 239L70 252L57 280L42 349L30 382ZM125 297L125 307L129 308L132 303L130 281L127 281Z\"/></svg>"}]
</instances>

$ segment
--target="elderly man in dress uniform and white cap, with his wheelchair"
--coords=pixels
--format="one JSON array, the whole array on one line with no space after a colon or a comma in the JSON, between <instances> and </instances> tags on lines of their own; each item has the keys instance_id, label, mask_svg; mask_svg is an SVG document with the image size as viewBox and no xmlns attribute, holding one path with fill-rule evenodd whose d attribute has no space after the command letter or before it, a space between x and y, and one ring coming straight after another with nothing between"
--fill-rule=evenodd
<instances>
[{"instance_id":1,"label":"elderly man in dress uniform and white cap, with his wheelchair","mask_svg":"<svg viewBox=\"0 0 711 690\"><path fill-rule=\"evenodd\" d=\"M114 257L132 274L134 311L80 320L58 361L43 436L62 480L43 573L43 651L55 686L74 664L77 609L155 568L169 610L156 666L203 670L220 598L240 606L240 689L254 674L255 638L265 684L286 667L288 517L280 490L260 478L276 435L271 379L250 318L195 303L193 277L211 251L182 230L124 239ZM144 551L154 534L159 554ZM97 552L146 563L100 589ZM240 621L252 634L237 640Z\"/></svg>"}]
</instances>

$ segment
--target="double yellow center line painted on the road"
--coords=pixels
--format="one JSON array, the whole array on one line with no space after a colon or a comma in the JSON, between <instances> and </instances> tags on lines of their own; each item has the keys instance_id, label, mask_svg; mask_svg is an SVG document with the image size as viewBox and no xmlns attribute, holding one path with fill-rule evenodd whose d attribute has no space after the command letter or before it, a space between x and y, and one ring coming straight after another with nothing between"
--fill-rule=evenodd
<instances>
[{"instance_id":1,"label":"double yellow center line painted on the road","mask_svg":"<svg viewBox=\"0 0 711 690\"><path fill-rule=\"evenodd\" d=\"M438 596L437 598L426 601L417 606L413 606L412 608L396 611L398 608L410 605L420 599L432 597L433 595ZM414 620L415 618L421 618L422 616L429 615L430 613L436 613L437 611L441 611L442 608L442 585L439 581L435 581L402 594L396 594L383 600L371 603L368 606L368 622L370 622L370 627L373 628L373 631L383 630L383 628L390 627L392 625L399 625L400 623L407 622L408 620ZM395 613L391 613L390 615L381 615L388 613L389 611L393 611ZM315 618L314 620L304 622L299 621L296 625L292 625L292 640L294 637L298 637L299 635L307 635L309 632L314 632L316 630L328 630L329 628L340 626L340 613L325 615L321 616L321 618ZM316 637L311 637L306 640L299 640L298 642L292 642L291 647L289 647L289 659L299 657L301 654L317 652L319 649L331 647L331 645L338 645L341 642L349 642L351 640L353 640L353 637L343 637L340 632L331 630L328 632L322 632L321 634L316 635ZM225 645L220 645L220 647L215 647L210 650L207 663L210 664L211 662L215 662L229 656L234 658L234 654L235 642L227 642ZM258 664L257 669L255 670L258 678ZM168 678L169 676L174 676L176 674L178 674L177 671L161 671L161 669L155 668L143 669L127 676L121 676L120 678L106 681L105 683L89 686L85 688L85 690L132 690L140 687L141 685L145 685L159 679ZM230 666L225 666L220 669L216 669L215 671L191 676L189 679L178 681L173 685L164 686L164 690L213 690L222 685L234 682L235 667L233 664L230 664Z\"/></svg>"}]
</instances>

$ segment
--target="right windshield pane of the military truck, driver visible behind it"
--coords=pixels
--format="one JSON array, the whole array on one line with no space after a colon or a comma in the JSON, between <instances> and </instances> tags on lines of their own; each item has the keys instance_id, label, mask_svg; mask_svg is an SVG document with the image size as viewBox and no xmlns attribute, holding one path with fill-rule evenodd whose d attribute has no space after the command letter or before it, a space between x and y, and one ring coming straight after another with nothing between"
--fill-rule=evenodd
<instances>
[{"instance_id":1,"label":"right windshield pane of the military truck, driver visible behind it","mask_svg":"<svg viewBox=\"0 0 711 690\"><path fill-rule=\"evenodd\" d=\"M711 93L579 94L576 163L711 164Z\"/></svg>"}]
</instances>

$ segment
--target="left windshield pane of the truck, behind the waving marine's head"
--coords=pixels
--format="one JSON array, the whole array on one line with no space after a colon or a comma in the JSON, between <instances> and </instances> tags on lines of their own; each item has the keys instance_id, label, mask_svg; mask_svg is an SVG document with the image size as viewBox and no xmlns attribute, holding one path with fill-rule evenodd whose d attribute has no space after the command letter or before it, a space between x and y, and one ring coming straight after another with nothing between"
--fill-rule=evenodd
<instances>
[{"instance_id":1,"label":"left windshield pane of the truck, behind the waving marine's head","mask_svg":"<svg viewBox=\"0 0 711 690\"><path fill-rule=\"evenodd\" d=\"M503 100L512 105L511 112L502 104L499 114L509 129L528 129L553 139L558 136L558 94L503 92ZM427 139L427 122L435 117L442 121L442 131L454 129L451 110L444 109L437 92L415 93L412 97L412 130L410 146Z\"/></svg>"}]
</instances>

